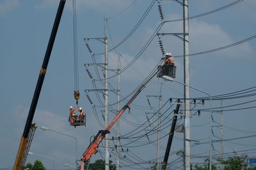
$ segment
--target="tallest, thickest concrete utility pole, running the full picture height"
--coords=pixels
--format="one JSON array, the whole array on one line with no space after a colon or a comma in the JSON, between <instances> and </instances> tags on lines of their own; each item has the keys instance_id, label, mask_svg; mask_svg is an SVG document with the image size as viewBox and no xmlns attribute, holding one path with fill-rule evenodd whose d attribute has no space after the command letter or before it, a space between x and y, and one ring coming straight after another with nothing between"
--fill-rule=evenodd
<instances>
[{"instance_id":1,"label":"tallest, thickest concrete utility pole, running the full picture height","mask_svg":"<svg viewBox=\"0 0 256 170\"><path fill-rule=\"evenodd\" d=\"M189 104L189 24L188 0L183 0L183 33L184 33L184 170L190 170L190 104Z\"/></svg>"}]
</instances>

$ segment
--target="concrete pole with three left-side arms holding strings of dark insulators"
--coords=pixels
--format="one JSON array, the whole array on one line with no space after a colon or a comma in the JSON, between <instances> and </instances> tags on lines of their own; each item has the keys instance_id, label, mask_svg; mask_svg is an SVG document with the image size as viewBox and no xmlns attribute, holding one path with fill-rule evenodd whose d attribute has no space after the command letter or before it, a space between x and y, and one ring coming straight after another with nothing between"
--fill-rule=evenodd
<instances>
[{"instance_id":1,"label":"concrete pole with three left-side arms holding strings of dark insulators","mask_svg":"<svg viewBox=\"0 0 256 170\"><path fill-rule=\"evenodd\" d=\"M105 128L108 127L108 38L106 36L104 18L104 44L105 44ZM105 138L105 169L109 170L109 134Z\"/></svg>"}]
</instances>

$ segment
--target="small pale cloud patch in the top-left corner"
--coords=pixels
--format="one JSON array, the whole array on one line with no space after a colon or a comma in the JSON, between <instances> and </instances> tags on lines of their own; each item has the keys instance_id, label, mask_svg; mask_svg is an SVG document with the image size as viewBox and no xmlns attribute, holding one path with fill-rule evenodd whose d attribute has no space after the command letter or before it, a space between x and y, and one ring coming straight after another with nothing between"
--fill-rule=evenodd
<instances>
[{"instance_id":1,"label":"small pale cloud patch in the top-left corner","mask_svg":"<svg viewBox=\"0 0 256 170\"><path fill-rule=\"evenodd\" d=\"M0 1L0 16L6 15L9 11L15 10L19 6L18 0L1 0Z\"/></svg>"}]
</instances>

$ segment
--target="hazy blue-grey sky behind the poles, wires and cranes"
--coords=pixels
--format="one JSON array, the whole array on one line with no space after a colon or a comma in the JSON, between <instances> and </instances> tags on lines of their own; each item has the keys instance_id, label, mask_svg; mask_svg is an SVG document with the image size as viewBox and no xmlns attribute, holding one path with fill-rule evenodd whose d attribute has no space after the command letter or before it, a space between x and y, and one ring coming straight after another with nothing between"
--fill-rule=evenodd
<instances>
[{"instance_id":1,"label":"hazy blue-grey sky behind the poles, wires and cranes","mask_svg":"<svg viewBox=\"0 0 256 170\"><path fill-rule=\"evenodd\" d=\"M93 76L93 80L86 73L86 63L102 63L104 55L104 44L100 41L90 40L94 58L85 46L84 38L102 38L104 32L108 36L108 49L113 49L118 43L125 39L124 43L108 52L109 69L117 69L118 57L120 57L121 70L124 69L135 57L138 59L121 73L121 95L129 99L133 92L147 78L148 74L159 64L162 54L158 45L159 39L163 41L164 51L172 52L177 66L176 80L183 82L183 42L175 36L154 37L150 44L147 42L154 35L157 27L161 24L158 3L161 4L164 15L164 24L158 32L177 33L182 32L182 6L177 1L163 0L154 2L150 0L76 0L77 4L77 54L79 69L79 91L81 99L79 106L86 112L86 127L71 127L68 123L68 108L75 106L74 92L74 43L73 43L73 16L72 1L67 1L54 42L51 59L47 68L44 85L36 107L33 122L37 129L30 152L44 155L51 159L44 159L36 155L28 155L27 162L42 160L47 169L68 169L64 164L75 166L75 160L80 159L90 144L91 136L97 134L104 125L102 114L104 113L104 98L102 93L88 92L93 101L90 104L86 89L103 89L104 83L102 68L87 67ZM220 138L220 110L223 110L224 134L223 139L252 136L255 134L255 71L256 71L256 41L255 41L255 7L254 0L191 0L189 1L189 17L207 13L219 9L228 4L228 8L189 19L189 75L190 85L196 89L203 90L211 96L229 94L240 90L243 94L252 94L236 99L223 99L220 97L212 101L213 125L212 139ZM57 0L0 0L0 100L1 110L1 140L0 140L0 169L12 169L20 138L24 131L28 110L31 104L36 81L42 66L45 50L51 34L54 17L58 8ZM148 6L152 7L145 18L143 14ZM104 31L104 18L107 18ZM133 31L133 28L142 22ZM132 34L130 35L130 32ZM129 35L127 37L127 35ZM126 39L127 37L127 39ZM249 38L249 39L248 39ZM246 40L246 41L243 41ZM240 43L239 43L240 42ZM148 45L143 53L141 49ZM230 46L228 46L230 45ZM234 45L234 46L233 46ZM214 50L223 48L220 50ZM213 50L211 52L209 50ZM201 53L204 52L204 53ZM198 54L200 53L200 54ZM194 55L195 54L195 55ZM196 55L198 54L198 55ZM109 87L116 90L116 73L109 70ZM95 82L95 85L93 85ZM252 88L252 89L250 89ZM112 89L112 90L113 90ZM148 97L151 107L148 105L147 96L163 96L161 111L161 161L163 159L170 124L172 124L172 111L175 105L169 103L169 99L183 98L184 86L179 83L164 81L154 78L141 92L131 105L131 114L125 113L120 119L120 143L124 150L120 152L120 169L148 169L154 165L156 160L156 126L159 107L159 99ZM250 90L245 90L250 89ZM249 92L250 91L250 92ZM191 98L208 97L205 93L191 89ZM227 95L225 96L227 97ZM223 98L225 98L223 97ZM234 96L232 96L234 97ZM202 103L202 101L198 100ZM125 100L122 101L121 108ZM222 105L221 105L222 104ZM221 106L232 107L220 108ZM116 94L109 92L109 121L115 116L111 110L116 110ZM172 106L172 107L170 107ZM209 157L209 100L205 104L191 104L191 114L201 111L200 117L191 117L191 162L193 164L204 162ZM93 111L95 107L95 111ZM247 108L247 109L244 109ZM241 109L241 110L237 110ZM184 108L181 108L181 111ZM146 116L147 115L147 116ZM147 117L150 121L147 121ZM182 124L179 115L179 124ZM74 138L63 134L42 131L40 127L49 127L54 131L62 132L77 139L77 155ZM115 126L109 138L116 136ZM138 133L137 133L138 131ZM145 135L148 133L148 138ZM139 138L139 136L141 138ZM123 137L123 138L122 138ZM175 133L169 161L171 167L182 169L182 157L175 152L183 148L183 134ZM194 141L205 143L195 145ZM256 145L253 143L255 137L225 141L224 153L234 152L248 154L256 157ZM115 164L115 147L111 143L111 160ZM104 142L102 141L102 144ZM216 157L220 154L220 143L214 143L212 150ZM114 151L113 151L114 150ZM239 152L248 150L248 152ZM232 153L231 155L234 155ZM225 156L230 156L226 154ZM99 152L92 155L92 162L104 157L104 145L100 145ZM53 167L54 162L54 167ZM144 164L142 164L142 163ZM147 162L147 163L145 163ZM141 163L138 165L138 163Z\"/></svg>"}]
</instances>

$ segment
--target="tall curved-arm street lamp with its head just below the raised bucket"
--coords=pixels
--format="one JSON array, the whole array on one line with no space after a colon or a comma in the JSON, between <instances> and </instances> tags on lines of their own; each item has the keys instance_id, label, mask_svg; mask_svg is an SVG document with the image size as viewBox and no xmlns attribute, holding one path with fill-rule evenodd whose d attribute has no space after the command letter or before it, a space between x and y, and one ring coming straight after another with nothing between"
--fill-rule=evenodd
<instances>
[{"instance_id":1,"label":"tall curved-arm street lamp with its head just below the raised bucket","mask_svg":"<svg viewBox=\"0 0 256 170\"><path fill-rule=\"evenodd\" d=\"M210 160L209 160L209 169L210 170L212 170L212 135L211 135L211 128L212 128L212 97L211 97L211 95L209 94L209 93L207 93L207 92L204 92L203 90L200 90L200 89L197 89L197 88L195 88L195 87L192 87L192 86L190 86L190 85L187 85L187 84L185 84L185 83L182 83L182 82L180 82L180 81L177 81L177 80L175 80L174 78L172 78L172 77L170 77L170 76L162 76L162 78L164 78L165 80L169 80L169 81L175 81L175 82L177 82L177 83L180 83L180 84L182 84L182 85L186 85L186 86L188 86L188 87L190 87L191 89L195 89L195 90L198 90L199 92L202 92L202 93L204 93L204 94L207 94L209 97L210 97L210 142L209 142L209 145L210 145L210 148L209 148L209 150L210 150Z\"/></svg>"}]
</instances>

